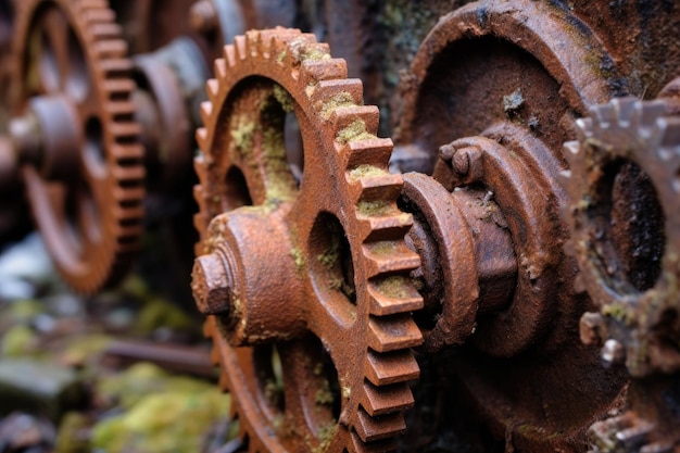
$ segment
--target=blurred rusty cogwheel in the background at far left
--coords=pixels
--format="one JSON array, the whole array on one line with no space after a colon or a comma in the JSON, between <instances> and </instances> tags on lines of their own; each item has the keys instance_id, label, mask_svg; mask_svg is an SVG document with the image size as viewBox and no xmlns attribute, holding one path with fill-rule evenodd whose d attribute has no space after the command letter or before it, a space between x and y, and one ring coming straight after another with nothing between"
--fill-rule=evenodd
<instances>
[{"instance_id":1,"label":"blurred rusty cogwheel in the background at far left","mask_svg":"<svg viewBox=\"0 0 680 453\"><path fill-rule=\"evenodd\" d=\"M27 131L16 143L26 191L58 270L91 293L124 276L142 231L126 45L104 0L17 9L12 105Z\"/></svg>"}]
</instances>

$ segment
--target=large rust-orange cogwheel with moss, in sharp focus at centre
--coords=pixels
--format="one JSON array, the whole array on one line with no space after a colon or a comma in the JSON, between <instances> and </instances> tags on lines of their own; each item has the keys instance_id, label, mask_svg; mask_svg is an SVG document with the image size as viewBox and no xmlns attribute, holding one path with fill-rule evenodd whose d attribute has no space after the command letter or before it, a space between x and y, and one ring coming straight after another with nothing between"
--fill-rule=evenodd
<instances>
[{"instance_id":1,"label":"large rust-orange cogwheel with moss, in sharp focus at centre","mask_svg":"<svg viewBox=\"0 0 680 453\"><path fill-rule=\"evenodd\" d=\"M423 301L378 110L299 30L238 36L215 75L192 288L241 436L251 452L389 451L413 404Z\"/></svg>"}]
</instances>

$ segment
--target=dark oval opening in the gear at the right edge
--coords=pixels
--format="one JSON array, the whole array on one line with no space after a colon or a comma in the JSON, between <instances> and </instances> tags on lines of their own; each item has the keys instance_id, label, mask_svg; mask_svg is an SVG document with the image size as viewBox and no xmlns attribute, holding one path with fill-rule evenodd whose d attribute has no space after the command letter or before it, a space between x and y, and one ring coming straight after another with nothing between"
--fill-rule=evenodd
<instances>
[{"instance_id":1,"label":"dark oval opening in the gear at the right edge","mask_svg":"<svg viewBox=\"0 0 680 453\"><path fill-rule=\"evenodd\" d=\"M605 281L620 293L654 287L662 272L664 212L650 177L635 163L604 167L589 207L589 239Z\"/></svg>"}]
</instances>

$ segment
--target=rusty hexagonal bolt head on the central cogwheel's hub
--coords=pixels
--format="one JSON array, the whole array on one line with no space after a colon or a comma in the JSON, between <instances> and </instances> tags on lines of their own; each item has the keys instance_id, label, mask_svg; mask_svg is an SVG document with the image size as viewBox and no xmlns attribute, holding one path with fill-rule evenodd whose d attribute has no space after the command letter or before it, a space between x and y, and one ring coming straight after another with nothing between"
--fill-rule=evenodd
<instances>
[{"instance_id":1,"label":"rusty hexagonal bolt head on the central cogwheel's hub","mask_svg":"<svg viewBox=\"0 0 680 453\"><path fill-rule=\"evenodd\" d=\"M226 314L230 311L231 288L219 255L211 253L196 259L191 272L191 290L202 314Z\"/></svg>"}]
</instances>

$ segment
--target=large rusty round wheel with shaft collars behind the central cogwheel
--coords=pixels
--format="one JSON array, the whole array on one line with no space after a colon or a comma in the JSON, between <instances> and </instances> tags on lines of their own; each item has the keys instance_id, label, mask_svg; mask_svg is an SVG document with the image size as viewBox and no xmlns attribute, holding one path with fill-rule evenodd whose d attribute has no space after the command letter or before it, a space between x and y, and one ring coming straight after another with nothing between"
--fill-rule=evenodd
<instances>
[{"instance_id":1,"label":"large rusty round wheel with shaft collars behind the central cogwheel","mask_svg":"<svg viewBox=\"0 0 680 453\"><path fill-rule=\"evenodd\" d=\"M404 176L408 239L424 263L414 277L424 277L425 310L414 318L442 382L424 401L459 404L463 417L482 407L481 425L507 451L580 451L627 376L574 335L592 304L575 291L576 262L563 251L558 175L575 117L627 80L569 8L532 0L444 15L402 80L392 167L432 175ZM417 400L415 417L430 407ZM442 410L442 431L459 421L453 411Z\"/></svg>"}]
</instances>

